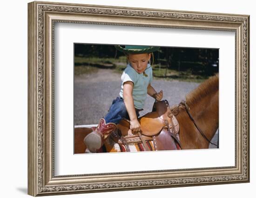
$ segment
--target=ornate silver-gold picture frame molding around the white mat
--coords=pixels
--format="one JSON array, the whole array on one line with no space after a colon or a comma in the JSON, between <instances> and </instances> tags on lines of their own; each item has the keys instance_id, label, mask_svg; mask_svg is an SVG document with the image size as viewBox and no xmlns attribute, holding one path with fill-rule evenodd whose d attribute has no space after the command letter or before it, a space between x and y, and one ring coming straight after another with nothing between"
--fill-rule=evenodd
<instances>
[{"instance_id":1,"label":"ornate silver-gold picture frame molding around the white mat","mask_svg":"<svg viewBox=\"0 0 256 198\"><path fill-rule=\"evenodd\" d=\"M236 33L235 166L54 176L54 22ZM32 196L249 182L249 15L28 4L28 194Z\"/></svg>"}]
</instances>

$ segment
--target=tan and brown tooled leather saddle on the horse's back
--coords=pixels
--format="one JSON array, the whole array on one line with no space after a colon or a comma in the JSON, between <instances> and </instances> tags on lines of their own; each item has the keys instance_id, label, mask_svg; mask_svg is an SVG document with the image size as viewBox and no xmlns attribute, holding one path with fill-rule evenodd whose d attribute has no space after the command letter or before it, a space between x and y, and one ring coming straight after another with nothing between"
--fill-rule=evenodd
<instances>
[{"instance_id":1,"label":"tan and brown tooled leather saddle on the horse's back","mask_svg":"<svg viewBox=\"0 0 256 198\"><path fill-rule=\"evenodd\" d=\"M111 134L116 143L124 145L129 151L129 144L142 143L144 149L149 151L146 142L153 141L155 150L181 149L179 140L179 123L172 114L168 101L155 102L152 112L138 119L141 132L135 133L130 129L130 122L122 119L117 124L117 131Z\"/></svg>"}]
</instances>

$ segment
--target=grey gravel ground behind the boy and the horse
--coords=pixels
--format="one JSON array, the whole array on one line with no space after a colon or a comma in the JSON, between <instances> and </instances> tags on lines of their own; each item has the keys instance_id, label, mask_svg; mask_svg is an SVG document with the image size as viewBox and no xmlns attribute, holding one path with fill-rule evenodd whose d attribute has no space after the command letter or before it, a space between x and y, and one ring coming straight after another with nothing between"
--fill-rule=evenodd
<instances>
[{"instance_id":1,"label":"grey gravel ground behind the boy and the horse","mask_svg":"<svg viewBox=\"0 0 256 198\"><path fill-rule=\"evenodd\" d=\"M74 77L74 125L98 124L101 117L108 113L112 101L119 96L121 75L113 70L100 69L96 73ZM156 91L163 90L163 99L170 106L185 99L187 93L195 89L199 83L153 80L151 85ZM147 96L144 115L152 110L155 100ZM217 131L218 133L218 131ZM217 141L217 133L213 141ZM214 148L215 146L210 147Z\"/></svg>"}]
</instances>

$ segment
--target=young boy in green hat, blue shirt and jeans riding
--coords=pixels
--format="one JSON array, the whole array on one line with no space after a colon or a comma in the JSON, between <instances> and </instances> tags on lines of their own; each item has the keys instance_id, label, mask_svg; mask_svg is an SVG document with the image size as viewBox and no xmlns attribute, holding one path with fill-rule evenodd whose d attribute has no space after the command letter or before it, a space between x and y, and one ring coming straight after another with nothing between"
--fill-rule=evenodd
<instances>
[{"instance_id":1,"label":"young boy in green hat, blue shirt and jeans riding","mask_svg":"<svg viewBox=\"0 0 256 198\"><path fill-rule=\"evenodd\" d=\"M124 52L129 62L121 75L120 97L112 102L108 114L101 118L96 130L85 137L86 153L97 152L104 140L115 131L116 124L122 118L130 120L130 129L139 132L141 130L138 121L139 111L144 107L147 94L157 101L161 101L163 96L162 90L157 93L150 84L153 75L152 67L148 64L151 54L159 47L126 45L122 48L120 45L115 45L115 48Z\"/></svg>"}]
</instances>

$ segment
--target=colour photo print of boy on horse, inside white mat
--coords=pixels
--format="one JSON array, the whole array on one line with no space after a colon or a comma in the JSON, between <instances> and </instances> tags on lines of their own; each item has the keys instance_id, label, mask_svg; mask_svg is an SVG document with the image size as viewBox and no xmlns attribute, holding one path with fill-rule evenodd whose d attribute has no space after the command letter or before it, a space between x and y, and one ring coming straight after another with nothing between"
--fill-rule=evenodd
<instances>
[{"instance_id":1,"label":"colour photo print of boy on horse, inside white mat","mask_svg":"<svg viewBox=\"0 0 256 198\"><path fill-rule=\"evenodd\" d=\"M219 50L74 44L74 154L213 149Z\"/></svg>"}]
</instances>

